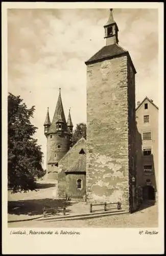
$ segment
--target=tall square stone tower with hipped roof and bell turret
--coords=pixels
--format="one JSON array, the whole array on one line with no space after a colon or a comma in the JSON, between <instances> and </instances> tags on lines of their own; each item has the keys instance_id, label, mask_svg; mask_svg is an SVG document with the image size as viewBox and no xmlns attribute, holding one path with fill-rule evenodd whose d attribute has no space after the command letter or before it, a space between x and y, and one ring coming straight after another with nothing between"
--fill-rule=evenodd
<instances>
[{"instance_id":1,"label":"tall square stone tower with hipped roof and bell turret","mask_svg":"<svg viewBox=\"0 0 166 256\"><path fill-rule=\"evenodd\" d=\"M87 202L122 202L136 207L135 68L118 45L112 9L105 29L106 46L87 66Z\"/></svg>"}]
</instances>

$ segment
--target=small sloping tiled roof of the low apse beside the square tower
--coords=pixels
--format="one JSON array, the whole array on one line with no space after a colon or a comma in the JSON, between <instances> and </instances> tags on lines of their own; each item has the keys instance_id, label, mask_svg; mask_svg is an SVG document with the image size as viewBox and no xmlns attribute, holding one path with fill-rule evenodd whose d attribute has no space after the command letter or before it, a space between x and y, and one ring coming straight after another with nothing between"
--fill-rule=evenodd
<instances>
[{"instance_id":1,"label":"small sloping tiled roof of the low apse beside the square tower","mask_svg":"<svg viewBox=\"0 0 166 256\"><path fill-rule=\"evenodd\" d=\"M86 172L86 154L80 155L79 159L65 173Z\"/></svg>"}]
</instances>

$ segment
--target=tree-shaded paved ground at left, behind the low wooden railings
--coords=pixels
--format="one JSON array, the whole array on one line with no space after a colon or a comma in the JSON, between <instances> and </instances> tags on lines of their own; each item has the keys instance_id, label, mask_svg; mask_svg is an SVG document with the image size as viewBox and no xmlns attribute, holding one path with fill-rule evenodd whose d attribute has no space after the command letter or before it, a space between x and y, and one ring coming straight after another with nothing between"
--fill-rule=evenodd
<instances>
[{"instance_id":1,"label":"tree-shaded paved ground at left, behind the low wooden railings","mask_svg":"<svg viewBox=\"0 0 166 256\"><path fill-rule=\"evenodd\" d=\"M44 219L61 218L65 207L65 217L90 214L90 204L86 202L66 201L57 198L57 182L39 181L37 191L28 193L8 194L8 223L22 222L43 218L43 208L57 208L57 212ZM61 209L61 210L59 210ZM123 209L123 206L122 206ZM104 205L93 207L97 212L104 212ZM102 211L101 211L102 210ZM94 212L93 211L93 212ZM96 211L95 211L96 212ZM107 211L109 213L109 211Z\"/></svg>"}]
</instances>

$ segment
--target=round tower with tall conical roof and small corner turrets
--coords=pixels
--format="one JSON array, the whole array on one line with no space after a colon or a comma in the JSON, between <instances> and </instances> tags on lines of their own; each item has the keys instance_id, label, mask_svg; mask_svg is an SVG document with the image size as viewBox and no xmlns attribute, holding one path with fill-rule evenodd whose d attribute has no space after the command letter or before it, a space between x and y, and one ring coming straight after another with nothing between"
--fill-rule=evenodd
<instances>
[{"instance_id":1,"label":"round tower with tall conical roof and small corner turrets","mask_svg":"<svg viewBox=\"0 0 166 256\"><path fill-rule=\"evenodd\" d=\"M60 89L52 123L50 122L48 108L44 122L44 135L47 138L46 174L48 174L48 179L57 179L58 161L69 150L73 137L73 124L70 111L68 121L66 122Z\"/></svg>"}]
</instances>

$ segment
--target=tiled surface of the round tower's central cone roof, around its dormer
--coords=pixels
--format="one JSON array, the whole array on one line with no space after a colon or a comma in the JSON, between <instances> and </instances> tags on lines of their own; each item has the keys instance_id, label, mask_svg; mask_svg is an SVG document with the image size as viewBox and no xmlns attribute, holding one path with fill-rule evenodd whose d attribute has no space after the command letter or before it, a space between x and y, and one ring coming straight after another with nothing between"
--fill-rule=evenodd
<instances>
[{"instance_id":1,"label":"tiled surface of the round tower's central cone roof, around its dormer","mask_svg":"<svg viewBox=\"0 0 166 256\"><path fill-rule=\"evenodd\" d=\"M66 119L65 119L65 115L64 115L60 89L59 89L59 97L58 97L55 113L53 116L53 121L52 121L50 129L49 129L49 133L56 132L56 123L58 121L64 123L64 131L67 132L67 124L66 124Z\"/></svg>"}]
</instances>

